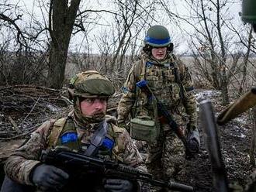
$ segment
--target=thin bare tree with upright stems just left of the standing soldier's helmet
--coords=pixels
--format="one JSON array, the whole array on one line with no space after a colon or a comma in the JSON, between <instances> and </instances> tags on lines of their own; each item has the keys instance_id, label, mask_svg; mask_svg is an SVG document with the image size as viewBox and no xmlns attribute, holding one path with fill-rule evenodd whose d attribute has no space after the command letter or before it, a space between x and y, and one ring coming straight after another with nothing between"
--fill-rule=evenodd
<instances>
[{"instance_id":1,"label":"thin bare tree with upright stems just left of the standing soldier's helmet","mask_svg":"<svg viewBox=\"0 0 256 192\"><path fill-rule=\"evenodd\" d=\"M156 2L150 1L131 1L131 0L115 0L118 7L115 17L116 22L116 46L115 53L112 58L112 66L110 70L114 69L117 58L117 70L121 70L124 66L123 59L130 49L131 45L137 43L137 36L149 22L153 21Z\"/></svg>"}]
</instances>

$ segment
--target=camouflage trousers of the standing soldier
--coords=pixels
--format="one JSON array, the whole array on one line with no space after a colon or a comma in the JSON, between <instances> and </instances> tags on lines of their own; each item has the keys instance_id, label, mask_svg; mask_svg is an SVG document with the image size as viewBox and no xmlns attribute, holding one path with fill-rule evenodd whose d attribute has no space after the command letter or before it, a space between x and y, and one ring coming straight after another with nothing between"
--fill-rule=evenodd
<instances>
[{"instance_id":1,"label":"camouflage trousers of the standing soldier","mask_svg":"<svg viewBox=\"0 0 256 192\"><path fill-rule=\"evenodd\" d=\"M162 125L168 126L168 125ZM175 181L185 163L185 147L172 131L161 131L156 142L148 144L146 166L154 179ZM151 191L173 191L152 187Z\"/></svg>"}]
</instances>

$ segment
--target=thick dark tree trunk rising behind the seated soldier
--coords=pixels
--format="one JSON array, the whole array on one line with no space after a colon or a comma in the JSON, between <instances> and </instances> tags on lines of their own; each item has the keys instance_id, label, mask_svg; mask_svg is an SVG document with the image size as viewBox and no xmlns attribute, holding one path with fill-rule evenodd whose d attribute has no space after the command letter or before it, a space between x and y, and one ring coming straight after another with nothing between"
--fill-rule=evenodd
<instances>
[{"instance_id":1,"label":"thick dark tree trunk rising behind the seated soldier","mask_svg":"<svg viewBox=\"0 0 256 192\"><path fill-rule=\"evenodd\" d=\"M47 76L49 87L62 87L67 50L80 2L81 0L50 1L49 29L51 42L49 73Z\"/></svg>"}]
</instances>

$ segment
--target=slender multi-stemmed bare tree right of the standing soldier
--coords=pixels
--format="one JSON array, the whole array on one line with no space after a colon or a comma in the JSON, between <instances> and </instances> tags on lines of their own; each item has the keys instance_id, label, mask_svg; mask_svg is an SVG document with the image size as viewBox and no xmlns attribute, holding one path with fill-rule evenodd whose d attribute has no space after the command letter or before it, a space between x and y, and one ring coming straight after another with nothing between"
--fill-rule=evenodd
<instances>
[{"instance_id":1,"label":"slender multi-stemmed bare tree right of the standing soldier","mask_svg":"<svg viewBox=\"0 0 256 192\"><path fill-rule=\"evenodd\" d=\"M234 2L227 0L185 0L190 15L178 16L180 21L189 24L195 33L188 33L194 63L203 77L214 88L221 91L223 105L229 103L228 86L238 70L234 36L228 26L233 21L229 7ZM165 9L168 9L165 7ZM169 14L171 18L173 14Z\"/></svg>"}]
</instances>

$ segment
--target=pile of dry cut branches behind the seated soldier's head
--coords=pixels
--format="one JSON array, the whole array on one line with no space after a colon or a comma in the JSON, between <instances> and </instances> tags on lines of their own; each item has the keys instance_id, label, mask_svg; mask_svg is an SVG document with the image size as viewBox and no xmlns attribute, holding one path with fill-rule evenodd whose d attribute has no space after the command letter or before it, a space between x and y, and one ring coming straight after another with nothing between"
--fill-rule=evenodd
<instances>
[{"instance_id":1,"label":"pile of dry cut branches behind the seated soldier's head","mask_svg":"<svg viewBox=\"0 0 256 192\"><path fill-rule=\"evenodd\" d=\"M116 115L121 96L109 98L109 115ZM0 87L0 142L29 137L43 122L64 117L71 108L67 91L32 85Z\"/></svg>"}]
</instances>

